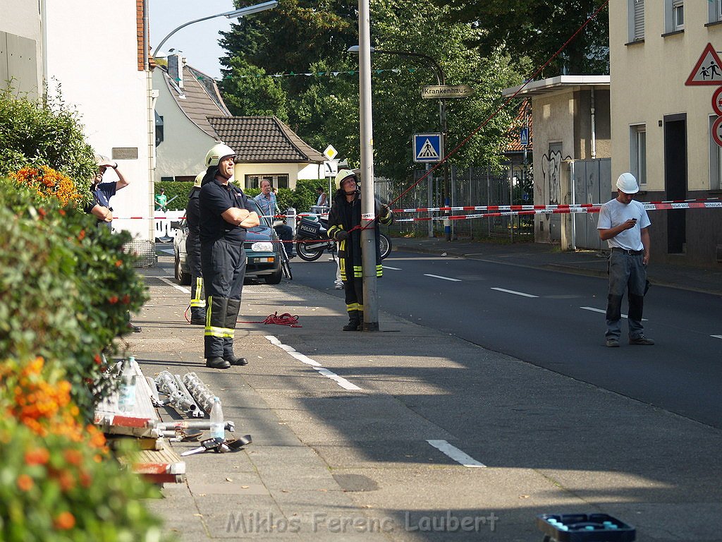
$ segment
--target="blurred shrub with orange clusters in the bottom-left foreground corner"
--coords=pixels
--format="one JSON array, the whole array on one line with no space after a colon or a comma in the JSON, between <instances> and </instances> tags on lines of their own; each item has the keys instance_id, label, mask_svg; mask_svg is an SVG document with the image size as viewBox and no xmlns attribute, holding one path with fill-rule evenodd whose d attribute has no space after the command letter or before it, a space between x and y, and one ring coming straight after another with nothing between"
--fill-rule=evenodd
<instances>
[{"instance_id":1,"label":"blurred shrub with orange clusters in the bottom-left foreground corner","mask_svg":"<svg viewBox=\"0 0 722 542\"><path fill-rule=\"evenodd\" d=\"M0 540L158 541L139 502L151 486L121 470L84 426L61 371L43 358L0 361Z\"/></svg>"}]
</instances>

